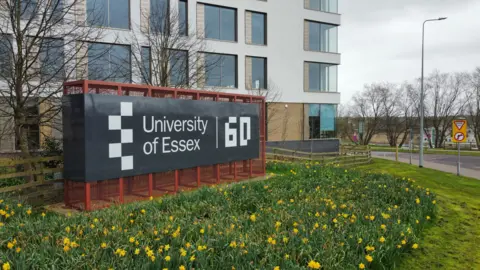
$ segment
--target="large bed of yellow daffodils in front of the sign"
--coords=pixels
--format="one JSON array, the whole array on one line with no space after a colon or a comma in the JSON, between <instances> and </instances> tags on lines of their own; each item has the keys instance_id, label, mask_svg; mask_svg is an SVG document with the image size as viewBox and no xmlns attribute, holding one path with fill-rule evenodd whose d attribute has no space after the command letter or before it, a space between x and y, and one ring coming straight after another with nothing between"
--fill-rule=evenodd
<instances>
[{"instance_id":1,"label":"large bed of yellow daffodils in front of the sign","mask_svg":"<svg viewBox=\"0 0 480 270\"><path fill-rule=\"evenodd\" d=\"M421 249L413 179L268 164L265 181L75 215L0 200L2 269L371 269Z\"/></svg>"}]
</instances>

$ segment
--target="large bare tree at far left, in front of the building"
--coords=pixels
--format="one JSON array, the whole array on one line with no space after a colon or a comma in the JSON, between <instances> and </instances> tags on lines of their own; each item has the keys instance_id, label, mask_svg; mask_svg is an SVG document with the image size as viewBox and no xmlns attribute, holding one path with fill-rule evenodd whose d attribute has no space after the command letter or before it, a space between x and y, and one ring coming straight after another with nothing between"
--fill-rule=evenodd
<instances>
[{"instance_id":1,"label":"large bare tree at far left, in front of the building","mask_svg":"<svg viewBox=\"0 0 480 270\"><path fill-rule=\"evenodd\" d=\"M102 35L86 21L82 0L0 1L0 114L11 118L24 158L32 150L29 127L53 125L63 82L85 68L87 41Z\"/></svg>"}]
</instances>

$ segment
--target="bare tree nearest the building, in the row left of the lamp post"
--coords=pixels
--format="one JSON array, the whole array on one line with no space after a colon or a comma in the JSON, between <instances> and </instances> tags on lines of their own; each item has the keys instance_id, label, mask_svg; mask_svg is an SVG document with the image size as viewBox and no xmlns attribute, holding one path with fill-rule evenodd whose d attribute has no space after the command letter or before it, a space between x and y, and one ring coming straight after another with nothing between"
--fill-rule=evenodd
<instances>
[{"instance_id":1,"label":"bare tree nearest the building, in the row left of the lamp post","mask_svg":"<svg viewBox=\"0 0 480 270\"><path fill-rule=\"evenodd\" d=\"M359 143L368 145L373 136L378 133L384 115L379 91L381 84L372 83L365 85L364 90L353 97L352 112L353 116L363 124L363 133L359 138Z\"/></svg>"}]
</instances>

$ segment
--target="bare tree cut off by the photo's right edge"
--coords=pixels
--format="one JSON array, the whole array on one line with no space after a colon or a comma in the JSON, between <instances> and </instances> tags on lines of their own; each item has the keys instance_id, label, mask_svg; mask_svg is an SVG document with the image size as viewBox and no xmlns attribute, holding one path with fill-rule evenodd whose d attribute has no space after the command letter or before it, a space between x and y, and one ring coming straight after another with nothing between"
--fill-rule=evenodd
<instances>
[{"instance_id":1,"label":"bare tree cut off by the photo's right edge","mask_svg":"<svg viewBox=\"0 0 480 270\"><path fill-rule=\"evenodd\" d=\"M477 148L480 150L480 67L477 67L470 76L465 112L469 126L473 130Z\"/></svg>"}]
</instances>

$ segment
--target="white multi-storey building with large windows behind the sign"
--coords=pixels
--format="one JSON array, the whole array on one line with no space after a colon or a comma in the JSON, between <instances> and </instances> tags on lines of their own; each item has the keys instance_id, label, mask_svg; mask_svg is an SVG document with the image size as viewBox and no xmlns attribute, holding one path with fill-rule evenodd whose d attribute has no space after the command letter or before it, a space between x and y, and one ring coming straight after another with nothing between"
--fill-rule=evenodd
<instances>
[{"instance_id":1,"label":"white multi-storey building with large windows behind the sign","mask_svg":"<svg viewBox=\"0 0 480 270\"><path fill-rule=\"evenodd\" d=\"M189 87L266 96L270 141L336 135L337 0L80 0L76 11L82 11L76 20L105 34L81 45L87 57L77 60L83 69L72 79L145 83L158 72L150 63L155 44L145 32L165 34L153 25L168 17L178 21L182 35L205 44L198 52L180 48L175 61L190 63L173 70L170 83L189 77L182 72L196 72L203 79ZM94 57L96 51L101 56Z\"/></svg>"}]
</instances>

